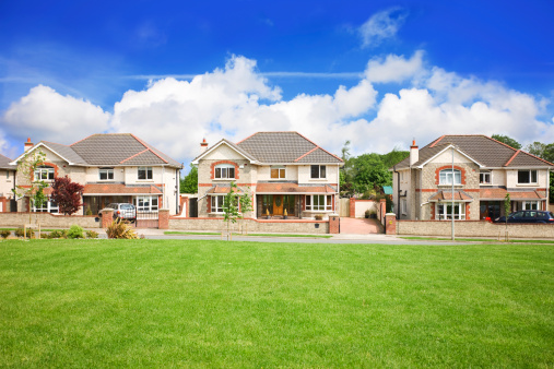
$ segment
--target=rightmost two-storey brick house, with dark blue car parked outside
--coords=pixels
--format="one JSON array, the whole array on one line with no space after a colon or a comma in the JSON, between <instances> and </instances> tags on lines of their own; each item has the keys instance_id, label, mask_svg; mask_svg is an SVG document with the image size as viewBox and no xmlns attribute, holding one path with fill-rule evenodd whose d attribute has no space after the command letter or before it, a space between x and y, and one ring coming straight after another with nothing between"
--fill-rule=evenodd
<instances>
[{"instance_id":1,"label":"rightmost two-storey brick house, with dark blue car parked outside","mask_svg":"<svg viewBox=\"0 0 554 369\"><path fill-rule=\"evenodd\" d=\"M453 157L453 171L452 171ZM486 135L443 135L410 156L393 171L393 202L400 219L494 219L511 212L546 210L552 163Z\"/></svg>"}]
</instances>

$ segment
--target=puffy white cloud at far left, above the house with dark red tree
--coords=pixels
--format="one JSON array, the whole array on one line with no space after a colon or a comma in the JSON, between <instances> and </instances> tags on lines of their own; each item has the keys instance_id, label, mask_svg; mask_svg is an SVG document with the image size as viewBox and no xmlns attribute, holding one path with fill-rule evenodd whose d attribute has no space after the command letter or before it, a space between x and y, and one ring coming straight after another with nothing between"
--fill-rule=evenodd
<instances>
[{"instance_id":1,"label":"puffy white cloud at far left, above the house with dark red tree","mask_svg":"<svg viewBox=\"0 0 554 369\"><path fill-rule=\"evenodd\" d=\"M31 88L13 103L2 118L3 130L17 140L72 143L108 128L109 114L72 96L62 96L48 86Z\"/></svg>"}]
</instances>

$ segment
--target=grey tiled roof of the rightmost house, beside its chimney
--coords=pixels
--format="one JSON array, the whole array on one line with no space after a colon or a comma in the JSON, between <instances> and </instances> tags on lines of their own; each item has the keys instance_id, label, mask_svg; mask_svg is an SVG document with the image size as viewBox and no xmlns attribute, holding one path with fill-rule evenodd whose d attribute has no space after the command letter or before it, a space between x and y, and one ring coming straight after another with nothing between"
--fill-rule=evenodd
<instances>
[{"instance_id":1,"label":"grey tiled roof of the rightmost house, beside its chimney","mask_svg":"<svg viewBox=\"0 0 554 369\"><path fill-rule=\"evenodd\" d=\"M484 134L443 135L420 148L420 157L414 166L423 165L449 145L457 146L459 152L490 168L554 166L552 163L526 153L524 151L510 147ZM397 169L410 167L410 157L397 164L396 167Z\"/></svg>"}]
</instances>

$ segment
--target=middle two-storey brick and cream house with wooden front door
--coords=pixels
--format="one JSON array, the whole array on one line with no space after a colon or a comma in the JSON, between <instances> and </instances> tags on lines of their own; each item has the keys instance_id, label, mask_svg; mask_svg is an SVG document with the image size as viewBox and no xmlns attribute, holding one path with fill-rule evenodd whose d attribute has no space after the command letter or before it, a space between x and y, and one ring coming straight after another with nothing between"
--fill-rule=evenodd
<instances>
[{"instance_id":1,"label":"middle two-storey brick and cream house with wooden front door","mask_svg":"<svg viewBox=\"0 0 554 369\"><path fill-rule=\"evenodd\" d=\"M251 214L262 218L315 218L338 212L339 168L344 163L297 132L258 132L232 143L205 141L198 165L198 216L223 214L235 182L252 195Z\"/></svg>"}]
</instances>

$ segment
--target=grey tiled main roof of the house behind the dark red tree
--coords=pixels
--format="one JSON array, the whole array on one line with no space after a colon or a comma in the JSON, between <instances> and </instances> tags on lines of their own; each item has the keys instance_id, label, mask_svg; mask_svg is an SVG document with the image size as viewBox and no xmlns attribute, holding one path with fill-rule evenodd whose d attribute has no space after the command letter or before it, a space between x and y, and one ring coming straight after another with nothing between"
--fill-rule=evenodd
<instances>
[{"instance_id":1,"label":"grey tiled main roof of the house behind the dark red tree","mask_svg":"<svg viewBox=\"0 0 554 369\"><path fill-rule=\"evenodd\" d=\"M90 165L144 164L181 167L180 163L130 133L93 134L70 147Z\"/></svg>"}]
</instances>

